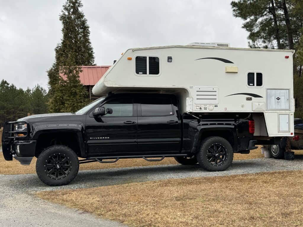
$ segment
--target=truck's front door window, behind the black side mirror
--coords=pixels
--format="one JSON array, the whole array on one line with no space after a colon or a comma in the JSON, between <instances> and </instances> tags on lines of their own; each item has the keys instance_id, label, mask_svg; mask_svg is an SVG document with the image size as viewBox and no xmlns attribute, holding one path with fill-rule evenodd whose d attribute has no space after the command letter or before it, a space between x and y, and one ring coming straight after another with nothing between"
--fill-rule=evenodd
<instances>
[{"instance_id":1,"label":"truck's front door window, behind the black side mirror","mask_svg":"<svg viewBox=\"0 0 303 227\"><path fill-rule=\"evenodd\" d=\"M102 107L112 108L112 114L106 114L105 117L118 117L118 116L133 116L133 99L122 98L113 99L106 102Z\"/></svg>"}]
</instances>

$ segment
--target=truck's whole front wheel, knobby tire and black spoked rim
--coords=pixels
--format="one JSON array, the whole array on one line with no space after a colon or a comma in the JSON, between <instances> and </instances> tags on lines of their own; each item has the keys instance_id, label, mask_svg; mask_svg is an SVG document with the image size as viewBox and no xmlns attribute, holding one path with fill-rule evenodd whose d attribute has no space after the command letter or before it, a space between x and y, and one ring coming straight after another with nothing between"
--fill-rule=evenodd
<instances>
[{"instance_id":1,"label":"truck's whole front wheel, knobby tire and black spoked rim","mask_svg":"<svg viewBox=\"0 0 303 227\"><path fill-rule=\"evenodd\" d=\"M79 170L79 160L75 152L67 146L56 145L46 148L36 162L39 179L50 186L70 183Z\"/></svg>"}]
</instances>

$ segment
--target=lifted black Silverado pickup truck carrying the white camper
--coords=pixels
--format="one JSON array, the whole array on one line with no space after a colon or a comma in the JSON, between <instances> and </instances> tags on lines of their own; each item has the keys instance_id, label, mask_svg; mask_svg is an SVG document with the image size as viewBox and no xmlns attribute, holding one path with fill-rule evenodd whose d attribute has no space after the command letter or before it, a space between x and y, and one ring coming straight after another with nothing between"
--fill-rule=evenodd
<instances>
[{"instance_id":1,"label":"lifted black Silverado pickup truck carrying the white camper","mask_svg":"<svg viewBox=\"0 0 303 227\"><path fill-rule=\"evenodd\" d=\"M58 186L75 178L79 164L124 158L175 157L184 165L199 163L209 171L223 171L233 153L256 148L253 133L249 113L194 115L180 113L174 95L111 94L76 113L6 122L2 149L5 160L14 157L22 165L37 157L38 177Z\"/></svg>"}]
</instances>

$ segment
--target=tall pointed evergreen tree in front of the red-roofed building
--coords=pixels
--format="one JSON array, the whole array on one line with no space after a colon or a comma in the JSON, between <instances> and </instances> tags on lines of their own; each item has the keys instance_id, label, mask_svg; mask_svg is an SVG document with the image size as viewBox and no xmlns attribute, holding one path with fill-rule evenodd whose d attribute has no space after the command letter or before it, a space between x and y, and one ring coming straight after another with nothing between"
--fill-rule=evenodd
<instances>
[{"instance_id":1,"label":"tall pointed evergreen tree in front of the red-roofed building","mask_svg":"<svg viewBox=\"0 0 303 227\"><path fill-rule=\"evenodd\" d=\"M77 66L93 65L95 57L82 7L80 0L67 0L59 16L62 39L55 48L55 62L48 70L51 112L76 111L88 102L88 92L79 81ZM64 73L67 80L59 73Z\"/></svg>"}]
</instances>

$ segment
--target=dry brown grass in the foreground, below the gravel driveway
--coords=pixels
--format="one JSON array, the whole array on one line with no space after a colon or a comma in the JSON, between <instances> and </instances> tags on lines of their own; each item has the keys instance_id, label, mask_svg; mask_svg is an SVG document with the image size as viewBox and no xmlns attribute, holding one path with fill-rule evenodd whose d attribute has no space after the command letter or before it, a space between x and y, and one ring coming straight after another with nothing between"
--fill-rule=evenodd
<instances>
[{"instance_id":1,"label":"dry brown grass in the foreground, below the gravel driveway","mask_svg":"<svg viewBox=\"0 0 303 227\"><path fill-rule=\"evenodd\" d=\"M131 226L303 226L303 171L169 179L38 197Z\"/></svg>"}]
</instances>

